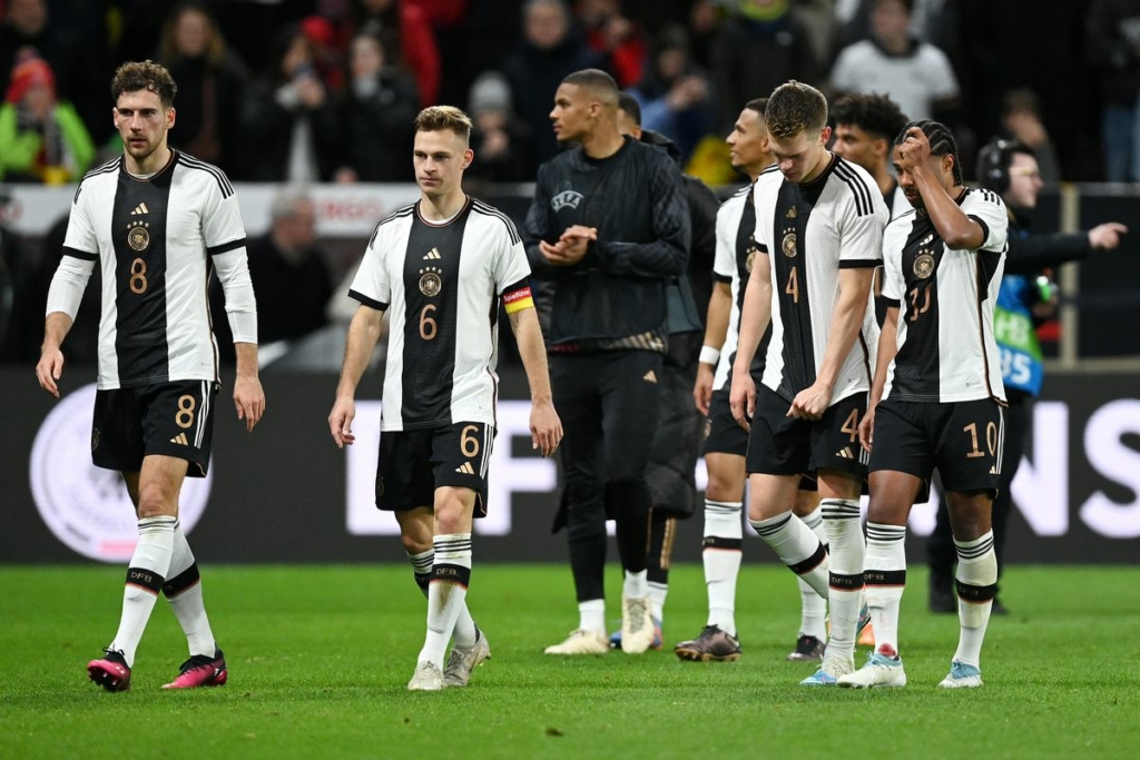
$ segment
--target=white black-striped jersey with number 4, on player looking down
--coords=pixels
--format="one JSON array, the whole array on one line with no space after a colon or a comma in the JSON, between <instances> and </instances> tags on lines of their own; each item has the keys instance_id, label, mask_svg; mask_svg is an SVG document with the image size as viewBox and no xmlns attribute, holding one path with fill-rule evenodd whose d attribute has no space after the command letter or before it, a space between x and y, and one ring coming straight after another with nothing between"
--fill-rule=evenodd
<instances>
[{"instance_id":1,"label":"white black-striped jersey with number 4, on player looking down","mask_svg":"<svg viewBox=\"0 0 1140 760\"><path fill-rule=\"evenodd\" d=\"M811 387L823 362L839 272L882 262L887 206L871 175L832 155L812 182L789 182L780 172L756 183L756 242L772 273L772 338L764 385L791 402ZM832 399L868 391L879 329L872 294L854 344L836 376Z\"/></svg>"}]
</instances>

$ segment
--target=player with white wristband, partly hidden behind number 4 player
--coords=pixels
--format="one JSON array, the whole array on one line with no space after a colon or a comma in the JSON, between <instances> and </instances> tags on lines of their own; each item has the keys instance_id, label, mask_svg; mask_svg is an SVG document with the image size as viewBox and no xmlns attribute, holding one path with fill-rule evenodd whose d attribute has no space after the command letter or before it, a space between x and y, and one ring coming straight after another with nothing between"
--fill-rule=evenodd
<instances>
[{"instance_id":1,"label":"player with white wristband, partly hidden behind number 4 player","mask_svg":"<svg viewBox=\"0 0 1140 760\"><path fill-rule=\"evenodd\" d=\"M706 416L702 448L708 487L705 490L701 558L708 588L709 615L701 634L677 644L674 653L682 660L695 662L733 661L741 655L735 606L736 579L740 575L743 548L741 512L744 481L748 477L744 473L748 433L732 417L728 381L735 359L744 285L752 263L757 260L752 238L756 231L752 183L762 172L777 171L768 150L768 131L764 124L767 103L767 98L747 103L725 138L732 167L746 174L751 183L725 201L717 211L716 260L712 271L715 284L709 300L705 348L701 350L697 383L693 386L693 400ZM759 379L764 371L763 349L762 345L752 361L755 379ZM825 541L815 484L807 484L811 489L801 489L797 493L792 510L812 528L821 541ZM799 580L799 636L788 660L816 662L823 655L823 643L826 640L826 599L803 580Z\"/></svg>"}]
</instances>

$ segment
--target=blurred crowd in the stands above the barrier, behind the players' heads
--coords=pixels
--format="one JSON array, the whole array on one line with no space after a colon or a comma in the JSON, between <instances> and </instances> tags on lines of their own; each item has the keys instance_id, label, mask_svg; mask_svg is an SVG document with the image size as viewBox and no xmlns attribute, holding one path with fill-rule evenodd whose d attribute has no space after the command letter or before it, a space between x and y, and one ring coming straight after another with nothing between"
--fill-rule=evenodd
<instances>
[{"instance_id":1,"label":"blurred crowd in the stands above the barrier, behind the players' heads","mask_svg":"<svg viewBox=\"0 0 1140 760\"><path fill-rule=\"evenodd\" d=\"M1008 132L1047 180L1140 179L1140 0L0 0L0 181L114 155L107 83L152 58L174 147L239 181L407 181L412 120L475 119L472 174L532 181L557 82L600 67L712 185L741 104L789 79L890 95L974 152Z\"/></svg>"}]
</instances>

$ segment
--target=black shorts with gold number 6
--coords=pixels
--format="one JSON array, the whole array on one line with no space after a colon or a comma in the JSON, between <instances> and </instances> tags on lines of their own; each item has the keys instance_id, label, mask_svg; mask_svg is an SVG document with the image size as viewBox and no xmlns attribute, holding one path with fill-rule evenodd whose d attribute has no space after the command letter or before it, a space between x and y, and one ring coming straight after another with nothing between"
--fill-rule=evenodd
<instances>
[{"instance_id":1,"label":"black shorts with gold number 6","mask_svg":"<svg viewBox=\"0 0 1140 760\"><path fill-rule=\"evenodd\" d=\"M475 517L487 516L487 469L495 428L455 423L416 431L382 431L376 465L376 508L431 508L445 485L475 492Z\"/></svg>"}]
</instances>

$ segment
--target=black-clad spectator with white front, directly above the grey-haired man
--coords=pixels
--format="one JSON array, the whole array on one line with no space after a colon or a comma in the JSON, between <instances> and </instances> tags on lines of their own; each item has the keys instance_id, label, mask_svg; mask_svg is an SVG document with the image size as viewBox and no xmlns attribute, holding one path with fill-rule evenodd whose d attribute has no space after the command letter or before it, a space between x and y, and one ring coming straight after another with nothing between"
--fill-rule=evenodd
<instances>
[{"instance_id":1,"label":"black-clad spectator with white front, directly above the grey-haired man","mask_svg":"<svg viewBox=\"0 0 1140 760\"><path fill-rule=\"evenodd\" d=\"M242 109L239 177L251 182L328 181L343 145L334 93L317 75L300 27L278 32L277 55Z\"/></svg>"}]
</instances>

